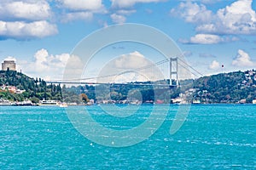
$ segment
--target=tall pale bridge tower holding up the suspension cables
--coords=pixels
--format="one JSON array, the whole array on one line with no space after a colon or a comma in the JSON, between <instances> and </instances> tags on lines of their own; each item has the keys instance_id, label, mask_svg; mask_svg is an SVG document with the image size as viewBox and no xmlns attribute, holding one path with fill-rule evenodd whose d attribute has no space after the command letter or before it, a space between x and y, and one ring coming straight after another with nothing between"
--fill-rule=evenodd
<instances>
[{"instance_id":1,"label":"tall pale bridge tower holding up the suspension cables","mask_svg":"<svg viewBox=\"0 0 256 170\"><path fill-rule=\"evenodd\" d=\"M177 57L170 58L170 86L178 86Z\"/></svg>"}]
</instances>

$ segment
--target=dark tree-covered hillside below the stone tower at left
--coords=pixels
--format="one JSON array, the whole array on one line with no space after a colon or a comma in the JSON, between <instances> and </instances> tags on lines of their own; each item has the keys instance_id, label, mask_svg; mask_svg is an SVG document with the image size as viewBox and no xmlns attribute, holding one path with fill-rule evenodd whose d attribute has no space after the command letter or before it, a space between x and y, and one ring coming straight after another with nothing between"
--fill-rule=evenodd
<instances>
[{"instance_id":1,"label":"dark tree-covered hillside below the stone tower at left","mask_svg":"<svg viewBox=\"0 0 256 170\"><path fill-rule=\"evenodd\" d=\"M0 71L0 87L0 98L10 101L30 99L38 103L41 99L61 100L60 85L47 85L41 78L33 79L17 71ZM15 93L9 87L15 87L23 93Z\"/></svg>"}]
</instances>

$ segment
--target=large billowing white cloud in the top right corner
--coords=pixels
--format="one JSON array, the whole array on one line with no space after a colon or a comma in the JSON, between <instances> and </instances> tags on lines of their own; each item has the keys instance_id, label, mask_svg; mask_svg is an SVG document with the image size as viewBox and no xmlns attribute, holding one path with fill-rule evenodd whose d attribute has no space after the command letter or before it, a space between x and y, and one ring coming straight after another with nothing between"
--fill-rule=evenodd
<instances>
[{"instance_id":1,"label":"large billowing white cloud in the top right corner","mask_svg":"<svg viewBox=\"0 0 256 170\"><path fill-rule=\"evenodd\" d=\"M218 34L256 34L256 13L252 8L253 0L239 0L216 14L216 20L196 28L201 32Z\"/></svg>"}]
</instances>

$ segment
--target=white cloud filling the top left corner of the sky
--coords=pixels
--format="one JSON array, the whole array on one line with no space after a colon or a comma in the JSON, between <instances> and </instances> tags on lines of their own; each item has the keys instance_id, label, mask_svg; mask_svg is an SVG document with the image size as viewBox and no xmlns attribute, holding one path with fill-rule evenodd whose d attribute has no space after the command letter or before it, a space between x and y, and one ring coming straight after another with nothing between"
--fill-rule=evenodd
<instances>
[{"instance_id":1,"label":"white cloud filling the top left corner of the sky","mask_svg":"<svg viewBox=\"0 0 256 170\"><path fill-rule=\"evenodd\" d=\"M50 14L46 1L0 3L0 20L46 20Z\"/></svg>"}]
</instances>

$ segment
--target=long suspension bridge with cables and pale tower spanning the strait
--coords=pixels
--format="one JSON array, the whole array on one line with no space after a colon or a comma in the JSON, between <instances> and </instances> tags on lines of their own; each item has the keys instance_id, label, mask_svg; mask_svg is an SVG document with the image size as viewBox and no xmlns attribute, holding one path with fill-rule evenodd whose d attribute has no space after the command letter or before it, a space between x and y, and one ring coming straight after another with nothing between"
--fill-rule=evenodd
<instances>
[{"instance_id":1,"label":"long suspension bridge with cables and pale tower spanning the strait","mask_svg":"<svg viewBox=\"0 0 256 170\"><path fill-rule=\"evenodd\" d=\"M147 74L154 75L155 69L157 68L158 71L161 71L164 75L164 80L157 80L157 77L154 77L154 81L141 81L137 80L137 78L130 78L138 77L136 72L143 72ZM158 86L158 87L177 87L179 86L181 74L190 74L193 77L202 77L200 71L195 70L191 65L189 65L185 60L180 58L170 58L170 59L163 59L156 63L152 63L150 65L145 65L140 68L132 69L131 71L122 72L122 74L114 73L114 74L105 74L100 75L98 77L86 77L86 78L76 78L76 79L68 79L68 80L53 80L47 81L46 83L52 84L79 84L79 85L133 85L133 86ZM157 76L157 75L156 75ZM121 77L123 81L116 80L116 77ZM190 77L192 78L192 77ZM99 81L101 80L101 81ZM105 80L105 81L102 81ZM112 81L109 81L112 80Z\"/></svg>"}]
</instances>

